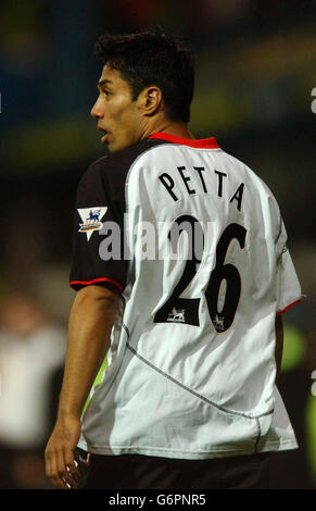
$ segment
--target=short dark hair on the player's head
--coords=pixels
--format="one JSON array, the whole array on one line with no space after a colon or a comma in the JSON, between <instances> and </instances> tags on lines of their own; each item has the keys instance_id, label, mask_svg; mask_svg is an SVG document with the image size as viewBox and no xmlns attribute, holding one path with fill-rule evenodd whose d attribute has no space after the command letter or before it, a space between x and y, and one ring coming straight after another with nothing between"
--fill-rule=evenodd
<instances>
[{"instance_id":1,"label":"short dark hair on the player's head","mask_svg":"<svg viewBox=\"0 0 316 511\"><path fill-rule=\"evenodd\" d=\"M169 121L190 120L194 65L191 51L179 38L161 27L135 34L104 34L96 45L96 54L119 71L130 86L135 101L150 85L160 87Z\"/></svg>"}]
</instances>

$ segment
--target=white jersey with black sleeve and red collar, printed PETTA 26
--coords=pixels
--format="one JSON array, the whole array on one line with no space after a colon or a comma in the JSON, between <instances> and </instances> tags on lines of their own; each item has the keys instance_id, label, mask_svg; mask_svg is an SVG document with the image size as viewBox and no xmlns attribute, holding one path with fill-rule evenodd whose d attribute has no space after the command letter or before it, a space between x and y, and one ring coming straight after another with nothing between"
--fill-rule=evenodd
<instances>
[{"instance_id":1,"label":"white jersey with black sleeve and red collar, printed PETTA 26","mask_svg":"<svg viewBox=\"0 0 316 511\"><path fill-rule=\"evenodd\" d=\"M154 134L94 162L77 211L71 285L123 297L79 447L180 459L295 448L275 321L301 288L263 180L214 138Z\"/></svg>"}]
</instances>

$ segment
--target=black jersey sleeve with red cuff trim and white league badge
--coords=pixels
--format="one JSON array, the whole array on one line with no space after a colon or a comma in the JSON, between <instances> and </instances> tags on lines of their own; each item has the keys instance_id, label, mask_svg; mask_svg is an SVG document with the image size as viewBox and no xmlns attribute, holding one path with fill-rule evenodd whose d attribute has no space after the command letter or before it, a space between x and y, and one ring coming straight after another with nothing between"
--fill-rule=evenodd
<instances>
[{"instance_id":1,"label":"black jersey sleeve with red cuff trim and white league badge","mask_svg":"<svg viewBox=\"0 0 316 511\"><path fill-rule=\"evenodd\" d=\"M69 277L76 290L100 285L123 292L126 285L124 183L113 186L112 180L111 158L102 158L90 165L78 185Z\"/></svg>"}]
</instances>

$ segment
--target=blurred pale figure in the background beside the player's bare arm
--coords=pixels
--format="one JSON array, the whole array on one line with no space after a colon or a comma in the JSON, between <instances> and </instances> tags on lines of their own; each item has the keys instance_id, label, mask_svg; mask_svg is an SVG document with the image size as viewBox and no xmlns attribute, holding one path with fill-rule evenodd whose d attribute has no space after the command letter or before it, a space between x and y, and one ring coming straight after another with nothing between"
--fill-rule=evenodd
<instances>
[{"instance_id":1,"label":"blurred pale figure in the background beside the player's bare arm","mask_svg":"<svg viewBox=\"0 0 316 511\"><path fill-rule=\"evenodd\" d=\"M0 316L0 488L46 488L65 332L23 285L2 299Z\"/></svg>"}]
</instances>

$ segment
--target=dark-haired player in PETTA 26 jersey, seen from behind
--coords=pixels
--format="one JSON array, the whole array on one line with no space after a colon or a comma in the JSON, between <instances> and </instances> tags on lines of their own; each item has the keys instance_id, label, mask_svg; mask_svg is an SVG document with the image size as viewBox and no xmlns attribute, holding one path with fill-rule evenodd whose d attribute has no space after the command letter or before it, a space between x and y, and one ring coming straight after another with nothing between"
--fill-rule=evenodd
<instances>
[{"instance_id":1,"label":"dark-haired player in PETTA 26 jersey, seen from behind","mask_svg":"<svg viewBox=\"0 0 316 511\"><path fill-rule=\"evenodd\" d=\"M277 201L190 134L178 39L104 35L97 50L91 115L110 154L78 186L47 476L65 489L267 488L269 452L298 447L276 387L280 314L301 300Z\"/></svg>"}]
</instances>

